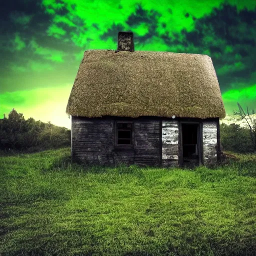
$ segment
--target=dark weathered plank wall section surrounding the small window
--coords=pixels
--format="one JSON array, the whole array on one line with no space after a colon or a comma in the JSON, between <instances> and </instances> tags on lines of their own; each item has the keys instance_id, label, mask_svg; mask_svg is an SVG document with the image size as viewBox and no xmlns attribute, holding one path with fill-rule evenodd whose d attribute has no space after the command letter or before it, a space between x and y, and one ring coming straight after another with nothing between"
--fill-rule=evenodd
<instances>
[{"instance_id":1,"label":"dark weathered plank wall section surrounding the small window","mask_svg":"<svg viewBox=\"0 0 256 256\"><path fill-rule=\"evenodd\" d=\"M134 120L133 147L114 145L113 118L72 117L71 155L77 162L103 165L160 165L159 120Z\"/></svg>"}]
</instances>

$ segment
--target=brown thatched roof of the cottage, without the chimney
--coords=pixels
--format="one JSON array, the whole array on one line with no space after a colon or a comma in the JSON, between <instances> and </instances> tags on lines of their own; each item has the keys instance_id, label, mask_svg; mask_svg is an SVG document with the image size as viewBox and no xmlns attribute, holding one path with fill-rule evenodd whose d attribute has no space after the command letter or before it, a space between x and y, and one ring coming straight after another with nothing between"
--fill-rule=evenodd
<instances>
[{"instance_id":1,"label":"brown thatched roof of the cottage, without the chimney","mask_svg":"<svg viewBox=\"0 0 256 256\"><path fill-rule=\"evenodd\" d=\"M115 50L84 52L66 113L86 117L225 116L209 56Z\"/></svg>"}]
</instances>

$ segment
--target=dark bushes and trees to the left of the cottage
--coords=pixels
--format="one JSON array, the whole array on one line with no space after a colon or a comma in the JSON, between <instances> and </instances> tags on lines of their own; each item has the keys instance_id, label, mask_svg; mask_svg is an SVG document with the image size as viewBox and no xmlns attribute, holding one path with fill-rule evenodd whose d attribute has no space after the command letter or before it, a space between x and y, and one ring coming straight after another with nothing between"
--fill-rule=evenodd
<instances>
[{"instance_id":1,"label":"dark bushes and trees to the left of the cottage","mask_svg":"<svg viewBox=\"0 0 256 256\"><path fill-rule=\"evenodd\" d=\"M8 118L0 119L0 149L35 151L70 145L70 130L50 122L25 120L13 108Z\"/></svg>"}]
</instances>

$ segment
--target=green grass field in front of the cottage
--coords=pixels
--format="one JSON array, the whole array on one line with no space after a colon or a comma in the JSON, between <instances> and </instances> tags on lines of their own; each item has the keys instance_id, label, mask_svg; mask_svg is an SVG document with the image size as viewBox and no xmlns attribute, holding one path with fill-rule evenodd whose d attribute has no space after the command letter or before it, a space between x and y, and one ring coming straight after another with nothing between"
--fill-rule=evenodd
<instances>
[{"instance_id":1,"label":"green grass field in front of the cottage","mask_svg":"<svg viewBox=\"0 0 256 256\"><path fill-rule=\"evenodd\" d=\"M0 157L0 255L256 255L256 155L208 169Z\"/></svg>"}]
</instances>

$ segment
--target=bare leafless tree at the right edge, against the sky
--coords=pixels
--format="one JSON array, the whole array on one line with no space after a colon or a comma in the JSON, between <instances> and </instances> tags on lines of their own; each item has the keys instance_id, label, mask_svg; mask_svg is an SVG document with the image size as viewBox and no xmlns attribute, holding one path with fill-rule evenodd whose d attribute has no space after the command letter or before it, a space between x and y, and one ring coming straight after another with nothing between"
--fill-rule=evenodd
<instances>
[{"instance_id":1,"label":"bare leafless tree at the right edge, against the sky","mask_svg":"<svg viewBox=\"0 0 256 256\"><path fill-rule=\"evenodd\" d=\"M233 111L233 113L239 115L241 120L242 119L246 120L246 123L250 129L250 139L253 146L253 151L256 152L256 119L252 120L248 107L246 107L247 113L245 113L238 102L237 102L237 105L238 105L238 111ZM251 114L254 114L254 113L255 113L254 109L252 109Z\"/></svg>"}]
</instances>

